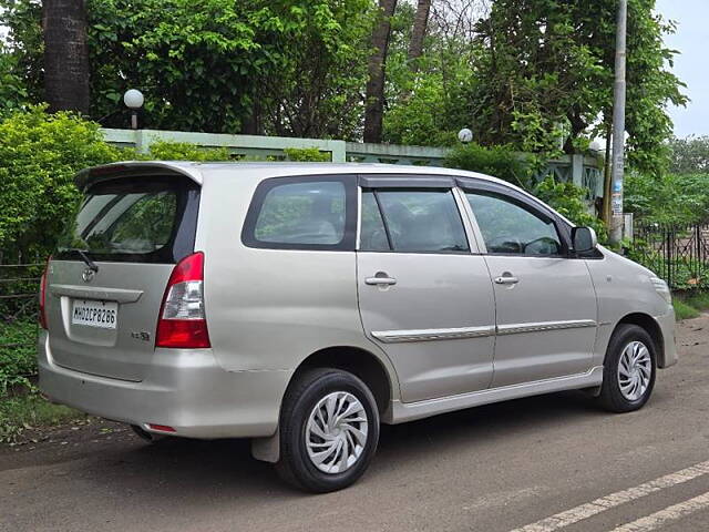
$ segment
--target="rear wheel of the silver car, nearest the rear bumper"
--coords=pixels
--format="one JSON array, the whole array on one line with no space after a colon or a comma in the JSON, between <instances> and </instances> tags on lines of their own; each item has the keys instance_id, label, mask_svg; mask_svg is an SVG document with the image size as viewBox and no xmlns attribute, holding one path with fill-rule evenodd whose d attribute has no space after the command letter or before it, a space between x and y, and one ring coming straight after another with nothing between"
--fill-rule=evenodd
<instances>
[{"instance_id":1,"label":"rear wheel of the silver car, nearest the rear bumper","mask_svg":"<svg viewBox=\"0 0 709 532\"><path fill-rule=\"evenodd\" d=\"M279 430L278 473L299 489L326 493L351 485L367 470L379 442L379 410L354 375L317 368L288 387Z\"/></svg>"}]
</instances>

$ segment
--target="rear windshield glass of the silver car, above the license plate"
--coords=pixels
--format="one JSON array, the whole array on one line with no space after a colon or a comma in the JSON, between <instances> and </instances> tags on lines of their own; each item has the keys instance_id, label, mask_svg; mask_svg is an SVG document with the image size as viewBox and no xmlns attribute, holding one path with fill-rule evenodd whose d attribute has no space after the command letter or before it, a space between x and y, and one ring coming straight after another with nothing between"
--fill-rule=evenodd
<instances>
[{"instance_id":1,"label":"rear windshield glass of the silver car, above the license plate","mask_svg":"<svg viewBox=\"0 0 709 532\"><path fill-rule=\"evenodd\" d=\"M56 258L174 264L194 250L199 187L183 176L121 177L91 186Z\"/></svg>"}]
</instances>

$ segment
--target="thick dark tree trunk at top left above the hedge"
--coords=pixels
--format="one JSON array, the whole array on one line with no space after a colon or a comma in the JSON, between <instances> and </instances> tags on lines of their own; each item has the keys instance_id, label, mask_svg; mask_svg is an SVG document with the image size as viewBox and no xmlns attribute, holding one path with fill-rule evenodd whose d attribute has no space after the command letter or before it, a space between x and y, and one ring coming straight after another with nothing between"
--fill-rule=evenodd
<instances>
[{"instance_id":1,"label":"thick dark tree trunk at top left above the hedge","mask_svg":"<svg viewBox=\"0 0 709 532\"><path fill-rule=\"evenodd\" d=\"M89 113L89 44L84 0L44 0L44 95L51 112Z\"/></svg>"}]
</instances>

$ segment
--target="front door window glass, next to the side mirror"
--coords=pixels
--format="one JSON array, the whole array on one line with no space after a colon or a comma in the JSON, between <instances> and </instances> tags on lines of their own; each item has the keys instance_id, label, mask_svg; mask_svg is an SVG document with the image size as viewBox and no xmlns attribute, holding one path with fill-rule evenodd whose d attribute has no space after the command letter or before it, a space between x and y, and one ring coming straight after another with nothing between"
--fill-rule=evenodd
<instances>
[{"instance_id":1,"label":"front door window glass, next to the side mirror","mask_svg":"<svg viewBox=\"0 0 709 532\"><path fill-rule=\"evenodd\" d=\"M559 255L562 241L554 222L497 194L465 194L487 253Z\"/></svg>"}]
</instances>

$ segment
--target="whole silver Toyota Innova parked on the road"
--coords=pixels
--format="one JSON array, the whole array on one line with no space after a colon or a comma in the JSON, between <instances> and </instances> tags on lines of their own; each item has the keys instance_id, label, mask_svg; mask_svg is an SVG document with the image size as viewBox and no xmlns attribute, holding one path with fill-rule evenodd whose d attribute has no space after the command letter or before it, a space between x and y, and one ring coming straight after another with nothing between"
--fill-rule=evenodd
<instances>
[{"instance_id":1,"label":"whole silver Toyota Innova parked on the road","mask_svg":"<svg viewBox=\"0 0 709 532\"><path fill-rule=\"evenodd\" d=\"M613 412L677 361L667 285L530 194L421 166L86 170L42 277L40 386L145 438L250 438L310 491L379 426L557 390Z\"/></svg>"}]
</instances>

